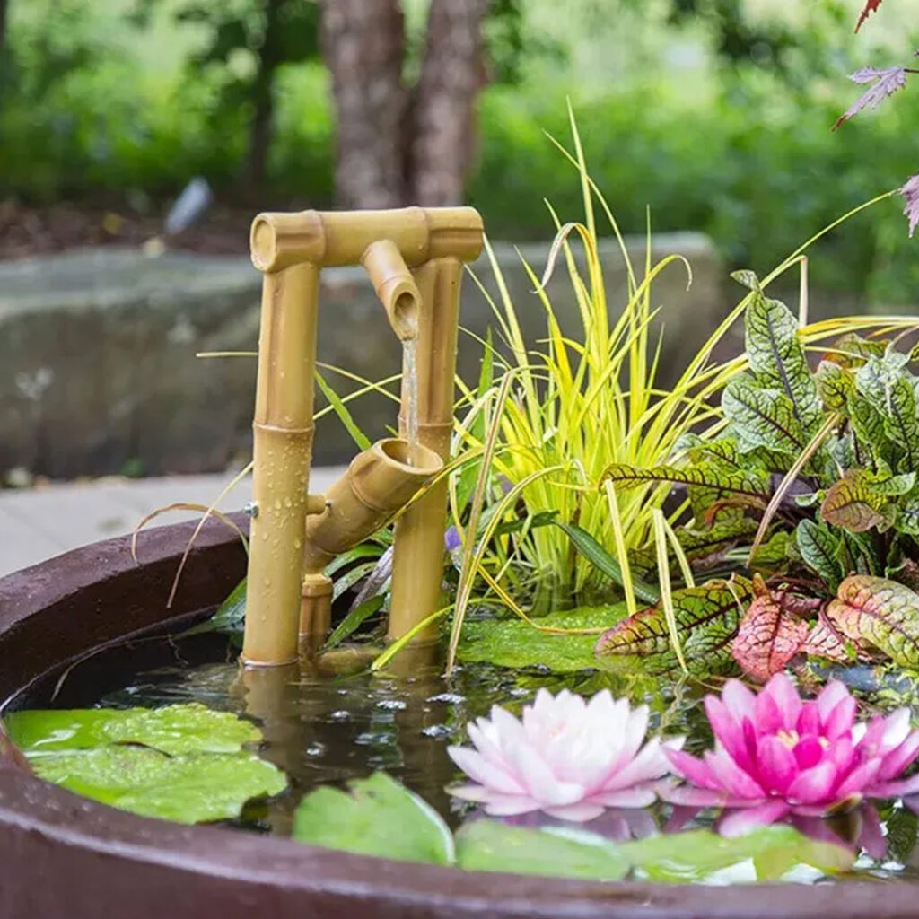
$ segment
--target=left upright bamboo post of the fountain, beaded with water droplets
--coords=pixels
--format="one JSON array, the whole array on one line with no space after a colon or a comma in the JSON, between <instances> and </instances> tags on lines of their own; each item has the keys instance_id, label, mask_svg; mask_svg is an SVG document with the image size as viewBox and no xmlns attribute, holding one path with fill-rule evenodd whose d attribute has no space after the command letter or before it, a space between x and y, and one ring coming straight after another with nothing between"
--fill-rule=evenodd
<instances>
[{"instance_id":1,"label":"left upright bamboo post of the fountain, beaded with water droplets","mask_svg":"<svg viewBox=\"0 0 919 919\"><path fill-rule=\"evenodd\" d=\"M297 659L318 294L319 268L309 262L264 276L245 664L278 666Z\"/></svg>"}]
</instances>

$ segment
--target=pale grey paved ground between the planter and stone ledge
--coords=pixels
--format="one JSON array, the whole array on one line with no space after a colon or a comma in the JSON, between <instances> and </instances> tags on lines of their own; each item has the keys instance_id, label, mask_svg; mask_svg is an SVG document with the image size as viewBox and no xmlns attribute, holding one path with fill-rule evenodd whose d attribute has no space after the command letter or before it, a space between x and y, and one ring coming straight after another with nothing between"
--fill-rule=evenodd
<instances>
[{"instance_id":1,"label":"pale grey paved ground between the planter and stone ledge","mask_svg":"<svg viewBox=\"0 0 919 919\"><path fill-rule=\"evenodd\" d=\"M331 468L313 470L311 491L323 491L340 472ZM210 505L232 479L232 473L165 479L112 478L0 491L0 577L88 542L130 533L143 516L157 507L178 502ZM246 478L218 507L224 511L240 510L251 492L252 480ZM171 512L149 526L195 516L198 515Z\"/></svg>"}]
</instances>

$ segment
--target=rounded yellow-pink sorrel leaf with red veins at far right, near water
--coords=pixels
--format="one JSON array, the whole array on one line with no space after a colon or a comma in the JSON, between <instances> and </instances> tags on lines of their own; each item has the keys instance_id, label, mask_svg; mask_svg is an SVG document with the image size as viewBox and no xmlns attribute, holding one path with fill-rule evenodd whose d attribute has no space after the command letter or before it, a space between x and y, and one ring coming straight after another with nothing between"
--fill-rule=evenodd
<instances>
[{"instance_id":1,"label":"rounded yellow-pink sorrel leaf with red veins at far right, near water","mask_svg":"<svg viewBox=\"0 0 919 919\"><path fill-rule=\"evenodd\" d=\"M882 577L854 574L826 607L834 629L872 645L902 667L919 665L919 595Z\"/></svg>"}]
</instances>

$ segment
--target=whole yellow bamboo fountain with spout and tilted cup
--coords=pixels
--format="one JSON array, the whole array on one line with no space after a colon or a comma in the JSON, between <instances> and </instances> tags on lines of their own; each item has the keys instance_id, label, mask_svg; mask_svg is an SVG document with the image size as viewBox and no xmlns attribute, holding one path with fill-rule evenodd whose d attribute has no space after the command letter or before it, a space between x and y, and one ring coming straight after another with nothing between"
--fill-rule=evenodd
<instances>
[{"instance_id":1,"label":"whole yellow bamboo fountain with spout and tilted cup","mask_svg":"<svg viewBox=\"0 0 919 919\"><path fill-rule=\"evenodd\" d=\"M252 528L243 662L295 663L329 630L322 570L366 539L448 459L463 263L482 250L471 208L264 213L252 260L263 273L253 422ZM361 265L403 342L398 438L379 441L322 495L309 494L319 276ZM447 483L433 484L396 523L388 638L440 607ZM426 631L426 630L425 630ZM415 641L430 639L420 632Z\"/></svg>"}]
</instances>

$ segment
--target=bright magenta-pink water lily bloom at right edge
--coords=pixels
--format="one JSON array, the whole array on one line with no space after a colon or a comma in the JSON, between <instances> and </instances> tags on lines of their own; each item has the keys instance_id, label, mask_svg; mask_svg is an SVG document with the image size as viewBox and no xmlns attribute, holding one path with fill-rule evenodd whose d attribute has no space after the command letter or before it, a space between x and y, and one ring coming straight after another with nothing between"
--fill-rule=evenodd
<instances>
[{"instance_id":1,"label":"bright magenta-pink water lily bloom at right edge","mask_svg":"<svg viewBox=\"0 0 919 919\"><path fill-rule=\"evenodd\" d=\"M675 804L739 810L719 829L738 835L789 814L822 816L865 798L919 791L919 775L900 779L919 755L909 709L856 723L856 700L838 681L802 701L789 677L777 674L754 695L729 680L707 696L714 751L702 759L668 750L686 784L664 789Z\"/></svg>"}]
</instances>

